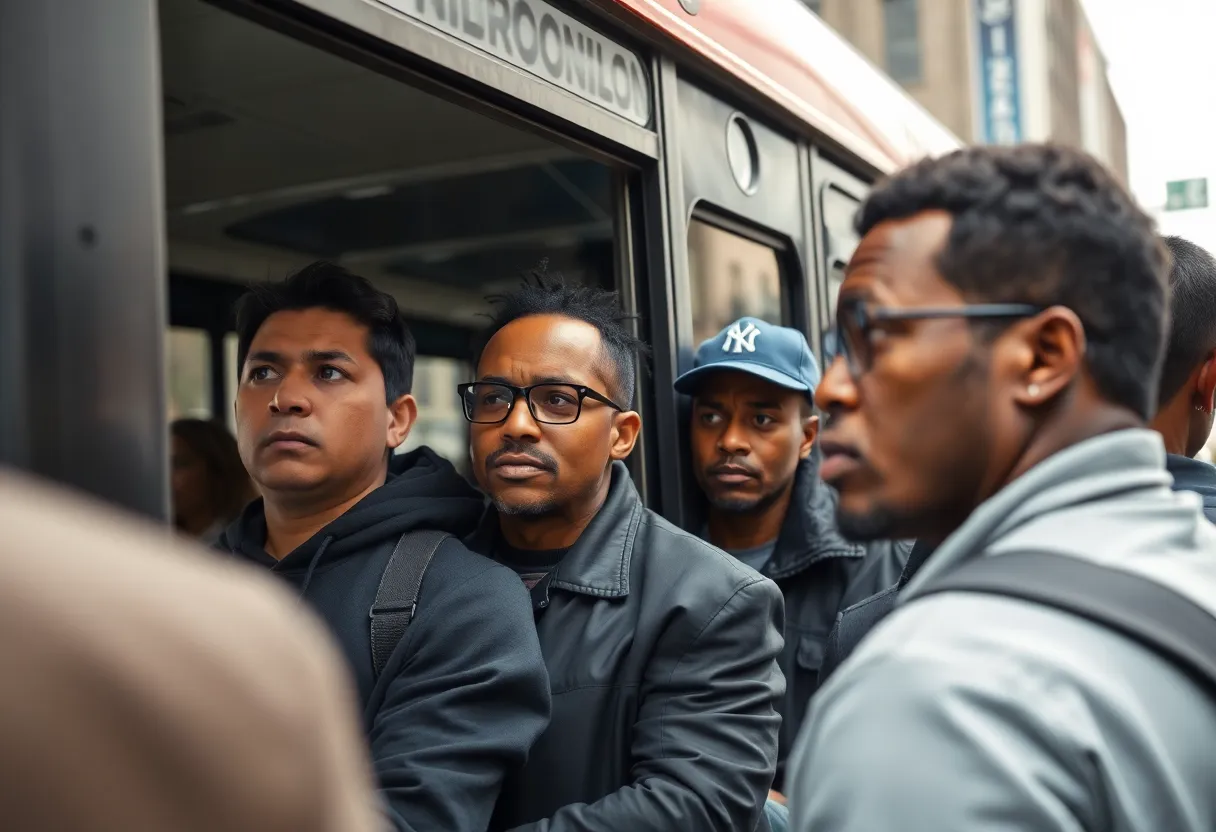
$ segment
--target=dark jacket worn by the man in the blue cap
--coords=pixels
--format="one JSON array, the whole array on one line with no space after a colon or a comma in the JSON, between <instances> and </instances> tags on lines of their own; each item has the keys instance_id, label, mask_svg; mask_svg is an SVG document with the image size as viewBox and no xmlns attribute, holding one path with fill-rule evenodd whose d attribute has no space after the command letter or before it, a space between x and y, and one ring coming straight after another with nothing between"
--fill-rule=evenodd
<instances>
[{"instance_id":1,"label":"dark jacket worn by the man in the blue cap","mask_svg":"<svg viewBox=\"0 0 1216 832\"><path fill-rule=\"evenodd\" d=\"M816 450L798 468L794 495L765 575L786 600L786 676L781 752L773 788L783 786L784 763L811 696L818 688L824 645L838 613L894 586L911 544L886 540L855 544L837 529L837 495L820 479Z\"/></svg>"}]
</instances>

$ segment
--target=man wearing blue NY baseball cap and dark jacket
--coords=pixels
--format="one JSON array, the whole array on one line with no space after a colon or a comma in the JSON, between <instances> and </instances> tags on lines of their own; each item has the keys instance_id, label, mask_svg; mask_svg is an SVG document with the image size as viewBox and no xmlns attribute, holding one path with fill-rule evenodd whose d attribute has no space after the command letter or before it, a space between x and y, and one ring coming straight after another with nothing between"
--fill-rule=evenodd
<instances>
[{"instance_id":1,"label":"man wearing blue NY baseball cap and dark jacket","mask_svg":"<svg viewBox=\"0 0 1216 832\"><path fill-rule=\"evenodd\" d=\"M697 350L675 388L693 399L693 470L703 538L771 578L786 596L779 792L786 755L817 686L837 613L895 584L910 544L845 540L820 480L820 367L798 330L742 317Z\"/></svg>"}]
</instances>

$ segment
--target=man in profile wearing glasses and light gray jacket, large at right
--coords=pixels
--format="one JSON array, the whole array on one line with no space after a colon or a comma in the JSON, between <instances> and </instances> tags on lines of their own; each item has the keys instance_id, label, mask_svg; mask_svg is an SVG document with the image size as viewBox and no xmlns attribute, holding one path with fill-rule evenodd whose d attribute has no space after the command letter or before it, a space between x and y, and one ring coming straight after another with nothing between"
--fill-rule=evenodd
<instances>
[{"instance_id":1,"label":"man in profile wearing glasses and light gray jacket, large at right","mask_svg":"<svg viewBox=\"0 0 1216 832\"><path fill-rule=\"evenodd\" d=\"M846 534L936 549L812 702L793 828L1210 832L1210 691L1079 615L918 598L972 558L1037 552L1216 611L1216 528L1145 427L1166 335L1152 220L1090 157L1021 146L918 163L857 225L821 471Z\"/></svg>"}]
</instances>

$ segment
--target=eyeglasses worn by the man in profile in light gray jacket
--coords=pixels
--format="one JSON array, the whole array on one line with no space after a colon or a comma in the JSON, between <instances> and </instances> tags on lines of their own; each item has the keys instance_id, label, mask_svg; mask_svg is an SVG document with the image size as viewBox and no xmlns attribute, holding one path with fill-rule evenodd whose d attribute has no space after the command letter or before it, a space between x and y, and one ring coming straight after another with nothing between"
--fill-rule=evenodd
<instances>
[{"instance_id":1,"label":"eyeglasses worn by the man in profile in light gray jacket","mask_svg":"<svg viewBox=\"0 0 1216 832\"><path fill-rule=\"evenodd\" d=\"M873 359L871 332L883 321L921 321L944 317L1015 319L1030 317L1042 307L1029 303L976 303L966 307L923 307L916 309L885 309L867 307L861 298L846 298L837 305L835 326L826 330L820 347L823 367L843 358L849 372L857 378L869 371Z\"/></svg>"}]
</instances>

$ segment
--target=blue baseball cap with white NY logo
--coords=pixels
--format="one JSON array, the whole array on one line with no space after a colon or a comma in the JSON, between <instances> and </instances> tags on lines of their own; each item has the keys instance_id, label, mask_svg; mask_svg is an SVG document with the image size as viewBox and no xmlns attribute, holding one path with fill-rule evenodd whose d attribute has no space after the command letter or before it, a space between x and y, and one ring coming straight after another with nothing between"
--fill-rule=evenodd
<instances>
[{"instance_id":1,"label":"blue baseball cap with white NY logo","mask_svg":"<svg viewBox=\"0 0 1216 832\"><path fill-rule=\"evenodd\" d=\"M698 347L692 370L676 378L676 392L692 395L704 375L715 370L749 372L809 397L820 383L820 365L806 336L759 317L741 317Z\"/></svg>"}]
</instances>

